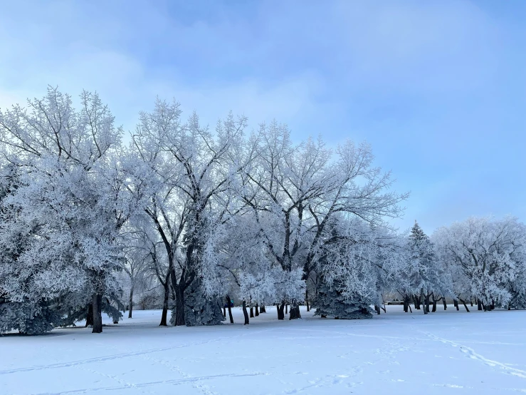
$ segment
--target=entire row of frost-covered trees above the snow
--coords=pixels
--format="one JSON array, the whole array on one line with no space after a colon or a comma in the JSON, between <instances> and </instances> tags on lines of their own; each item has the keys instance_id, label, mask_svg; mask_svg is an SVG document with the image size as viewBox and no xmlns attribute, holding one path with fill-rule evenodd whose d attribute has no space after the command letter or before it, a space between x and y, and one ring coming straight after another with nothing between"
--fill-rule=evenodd
<instances>
[{"instance_id":1,"label":"entire row of frost-covered trees above the snow","mask_svg":"<svg viewBox=\"0 0 526 395\"><path fill-rule=\"evenodd\" d=\"M80 110L49 88L0 112L0 332L39 333L102 312L118 322L129 281L162 294L161 325L219 324L231 295L247 306L311 301L317 314L372 317L382 295L406 303L476 298L523 307L525 229L472 218L431 240L386 225L406 194L368 145L293 143L285 125L212 132L178 103L141 113L127 143L96 94ZM248 315L246 314L246 322Z\"/></svg>"}]
</instances>

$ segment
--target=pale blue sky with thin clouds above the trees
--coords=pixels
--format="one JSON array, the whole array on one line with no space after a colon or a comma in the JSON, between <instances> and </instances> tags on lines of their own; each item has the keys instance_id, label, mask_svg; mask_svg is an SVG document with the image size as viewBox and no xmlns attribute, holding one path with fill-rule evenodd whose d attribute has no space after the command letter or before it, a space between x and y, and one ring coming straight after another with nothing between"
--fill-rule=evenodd
<instances>
[{"instance_id":1,"label":"pale blue sky with thin clouds above the trees","mask_svg":"<svg viewBox=\"0 0 526 395\"><path fill-rule=\"evenodd\" d=\"M0 108L98 91L128 130L155 96L296 140L367 140L401 229L526 221L526 1L2 1Z\"/></svg>"}]
</instances>

